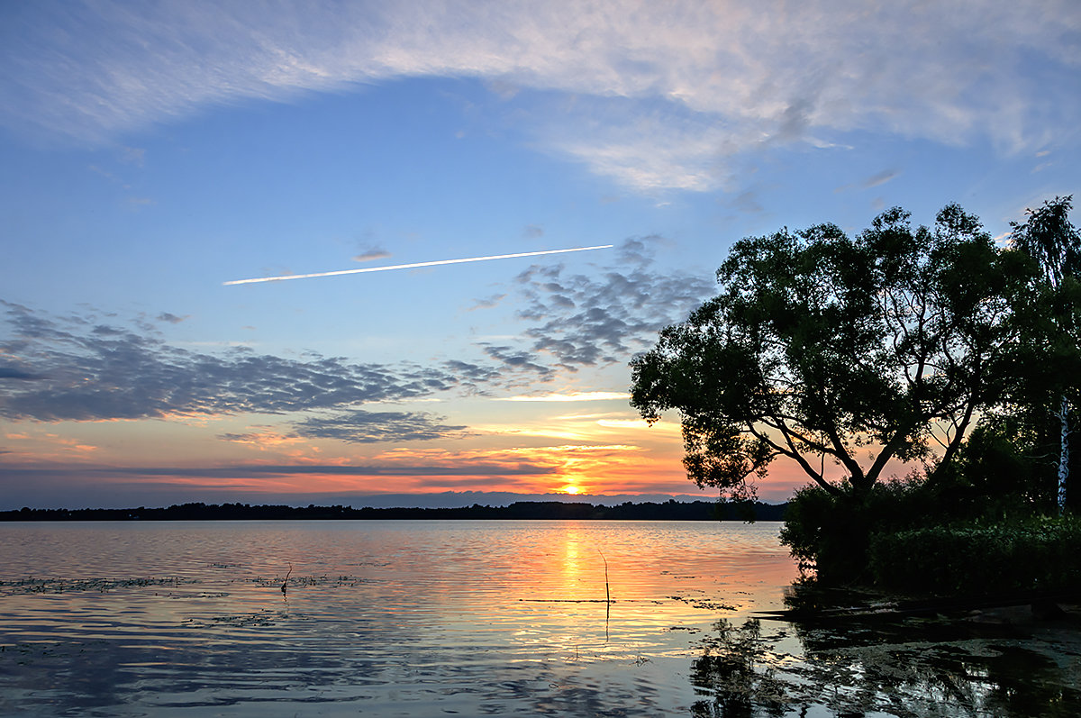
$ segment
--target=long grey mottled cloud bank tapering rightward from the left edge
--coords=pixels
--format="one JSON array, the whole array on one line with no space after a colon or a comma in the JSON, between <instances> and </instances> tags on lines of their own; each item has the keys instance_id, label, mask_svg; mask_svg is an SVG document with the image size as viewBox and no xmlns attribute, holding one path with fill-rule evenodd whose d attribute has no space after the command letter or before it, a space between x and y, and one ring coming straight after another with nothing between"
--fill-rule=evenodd
<instances>
[{"instance_id":1,"label":"long grey mottled cloud bank tapering rightward from the left edge","mask_svg":"<svg viewBox=\"0 0 1081 718\"><path fill-rule=\"evenodd\" d=\"M387 365L309 355L288 359L246 348L200 354L135 328L57 318L0 301L8 331L0 354L15 360L0 383L0 416L90 421L169 415L286 413L427 397L497 378L467 362ZM18 376L15 376L15 373Z\"/></svg>"}]
</instances>

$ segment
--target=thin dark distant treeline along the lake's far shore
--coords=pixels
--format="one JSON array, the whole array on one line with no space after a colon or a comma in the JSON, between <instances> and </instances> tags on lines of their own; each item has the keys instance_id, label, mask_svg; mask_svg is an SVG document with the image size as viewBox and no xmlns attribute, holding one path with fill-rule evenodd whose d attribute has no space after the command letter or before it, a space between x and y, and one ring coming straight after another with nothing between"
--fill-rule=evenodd
<instances>
[{"instance_id":1,"label":"thin dark distant treeline along the lake's far shore","mask_svg":"<svg viewBox=\"0 0 1081 718\"><path fill-rule=\"evenodd\" d=\"M662 504L627 502L618 506L523 501L509 506L459 508L352 508L351 506L252 506L250 504L176 504L168 508L22 508L0 511L0 521L217 521L269 519L577 519L667 521L780 521L787 504L695 501Z\"/></svg>"}]
</instances>

